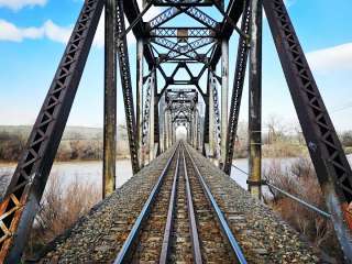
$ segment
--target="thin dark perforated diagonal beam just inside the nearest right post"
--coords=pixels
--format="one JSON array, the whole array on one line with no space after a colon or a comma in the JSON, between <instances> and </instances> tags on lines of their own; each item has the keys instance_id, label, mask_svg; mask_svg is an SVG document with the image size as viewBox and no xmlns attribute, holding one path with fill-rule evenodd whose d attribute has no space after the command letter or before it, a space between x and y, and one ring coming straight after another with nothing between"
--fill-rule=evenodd
<instances>
[{"instance_id":1,"label":"thin dark perforated diagonal beam just inside the nearest right post","mask_svg":"<svg viewBox=\"0 0 352 264\"><path fill-rule=\"evenodd\" d=\"M245 13L242 18L242 25L241 25L241 30L245 34L249 34L250 18L251 18L251 8L248 1ZM250 46L244 37L240 37L235 72L234 72L234 78L233 78L231 105L230 105L229 127L228 127L228 136L227 136L227 157L223 166L223 172L228 175L231 175L232 158L233 158L234 143L235 143L235 136L237 136L238 123L239 123L239 117L240 117L240 107L241 107L241 100L242 100L242 91L243 91L243 85L244 85L244 76L245 76L245 69L248 64L249 50L250 50Z\"/></svg>"}]
</instances>

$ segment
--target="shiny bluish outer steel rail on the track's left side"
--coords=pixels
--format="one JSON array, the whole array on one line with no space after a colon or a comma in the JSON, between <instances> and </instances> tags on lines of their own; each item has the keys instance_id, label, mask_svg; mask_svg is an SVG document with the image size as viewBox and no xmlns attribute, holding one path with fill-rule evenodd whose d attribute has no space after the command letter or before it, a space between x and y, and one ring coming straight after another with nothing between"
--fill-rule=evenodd
<instances>
[{"instance_id":1,"label":"shiny bluish outer steel rail on the track's left side","mask_svg":"<svg viewBox=\"0 0 352 264\"><path fill-rule=\"evenodd\" d=\"M129 257L131 256L131 252L133 250L133 245L135 244L140 231L142 229L142 226L144 223L144 221L147 219L150 212L151 212L151 207L155 201L155 197L158 194L162 184L163 184L163 179L165 178L165 175L168 172L168 168L172 164L172 161L174 160L174 156L177 152L177 150L179 148L179 144L175 147L175 151L173 153L173 155L168 158L163 172L161 173L161 176L158 177L157 183L154 185L146 202L144 204L141 213L139 215L139 217L136 218L131 232L129 233L129 237L127 238L127 240L124 241L117 258L114 260L113 264L121 264L121 263L128 263Z\"/></svg>"}]
</instances>

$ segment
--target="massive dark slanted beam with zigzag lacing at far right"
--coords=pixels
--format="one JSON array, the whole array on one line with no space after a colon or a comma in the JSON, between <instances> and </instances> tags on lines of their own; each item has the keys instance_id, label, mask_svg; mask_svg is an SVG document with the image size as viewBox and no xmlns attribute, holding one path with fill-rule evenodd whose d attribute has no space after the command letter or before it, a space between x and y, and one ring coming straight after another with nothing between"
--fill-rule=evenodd
<instances>
[{"instance_id":1,"label":"massive dark slanted beam with zigzag lacing at far right","mask_svg":"<svg viewBox=\"0 0 352 264\"><path fill-rule=\"evenodd\" d=\"M351 167L283 0L263 4L322 195L345 261L351 263Z\"/></svg>"}]
</instances>

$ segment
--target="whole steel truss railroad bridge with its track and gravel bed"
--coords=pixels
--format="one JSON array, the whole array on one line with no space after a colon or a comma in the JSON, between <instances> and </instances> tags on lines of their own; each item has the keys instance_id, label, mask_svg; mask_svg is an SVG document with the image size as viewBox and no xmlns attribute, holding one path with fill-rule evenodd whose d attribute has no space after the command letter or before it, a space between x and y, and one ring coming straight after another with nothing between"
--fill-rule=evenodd
<instances>
[{"instance_id":1,"label":"whole steel truss railroad bridge with its track and gravel bed","mask_svg":"<svg viewBox=\"0 0 352 264\"><path fill-rule=\"evenodd\" d=\"M160 13L146 20L155 7ZM331 219L351 263L351 167L283 0L86 0L1 199L0 262L21 262L103 10L105 199L37 262L320 262L261 202L262 186L270 185L261 176L263 9L328 212L287 195ZM135 85L128 34L136 38ZM238 50L230 52L233 35ZM229 177L246 72L248 191ZM134 176L116 189L118 87Z\"/></svg>"}]
</instances>

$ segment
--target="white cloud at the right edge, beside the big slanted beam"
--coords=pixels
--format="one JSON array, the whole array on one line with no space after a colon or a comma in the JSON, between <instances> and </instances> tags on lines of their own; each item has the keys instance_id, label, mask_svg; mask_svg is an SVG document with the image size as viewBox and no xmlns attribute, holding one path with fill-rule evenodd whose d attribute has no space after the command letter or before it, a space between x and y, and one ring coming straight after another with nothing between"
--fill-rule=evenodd
<instances>
[{"instance_id":1,"label":"white cloud at the right edge, beside the big slanted beam","mask_svg":"<svg viewBox=\"0 0 352 264\"><path fill-rule=\"evenodd\" d=\"M318 72L352 70L352 43L310 52L307 59Z\"/></svg>"}]
</instances>

